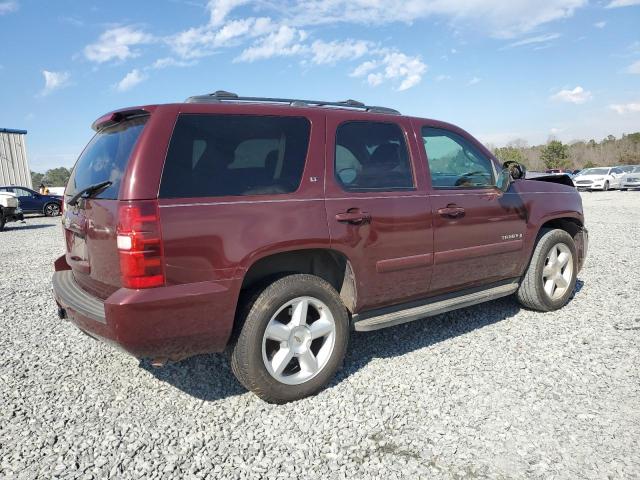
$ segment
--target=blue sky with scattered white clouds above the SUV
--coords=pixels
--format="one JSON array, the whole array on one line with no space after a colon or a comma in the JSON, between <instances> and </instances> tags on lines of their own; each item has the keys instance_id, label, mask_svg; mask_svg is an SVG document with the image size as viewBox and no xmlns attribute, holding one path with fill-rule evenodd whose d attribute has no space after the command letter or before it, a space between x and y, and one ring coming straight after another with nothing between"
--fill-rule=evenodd
<instances>
[{"instance_id":1,"label":"blue sky with scattered white clouds above the SUV","mask_svg":"<svg viewBox=\"0 0 640 480\"><path fill-rule=\"evenodd\" d=\"M640 0L0 0L0 127L72 166L119 107L354 98L485 143L640 130Z\"/></svg>"}]
</instances>

